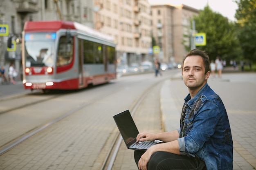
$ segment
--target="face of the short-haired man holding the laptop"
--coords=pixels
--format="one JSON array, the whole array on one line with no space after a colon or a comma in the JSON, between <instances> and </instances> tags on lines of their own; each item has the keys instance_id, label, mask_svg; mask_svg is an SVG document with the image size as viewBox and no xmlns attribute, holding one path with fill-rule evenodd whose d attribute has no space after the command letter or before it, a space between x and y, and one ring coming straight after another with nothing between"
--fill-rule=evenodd
<instances>
[{"instance_id":1,"label":"face of the short-haired man holding the laptop","mask_svg":"<svg viewBox=\"0 0 256 170\"><path fill-rule=\"evenodd\" d=\"M199 55L186 57L182 68L184 84L194 91L199 91L206 84L210 73L204 74L204 62Z\"/></svg>"}]
</instances>

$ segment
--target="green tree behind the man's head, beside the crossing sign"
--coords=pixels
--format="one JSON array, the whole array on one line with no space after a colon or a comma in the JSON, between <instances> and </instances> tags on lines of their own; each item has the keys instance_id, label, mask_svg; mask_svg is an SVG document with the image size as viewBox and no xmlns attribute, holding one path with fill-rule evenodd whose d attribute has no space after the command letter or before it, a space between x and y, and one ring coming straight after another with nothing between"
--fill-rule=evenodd
<instances>
[{"instance_id":1,"label":"green tree behind the man's head, beside the crossing sign","mask_svg":"<svg viewBox=\"0 0 256 170\"><path fill-rule=\"evenodd\" d=\"M206 46L197 46L197 49L205 50L210 60L215 60L217 56L227 61L238 57L240 48L233 22L213 12L208 5L193 20L196 31L206 33Z\"/></svg>"}]
</instances>

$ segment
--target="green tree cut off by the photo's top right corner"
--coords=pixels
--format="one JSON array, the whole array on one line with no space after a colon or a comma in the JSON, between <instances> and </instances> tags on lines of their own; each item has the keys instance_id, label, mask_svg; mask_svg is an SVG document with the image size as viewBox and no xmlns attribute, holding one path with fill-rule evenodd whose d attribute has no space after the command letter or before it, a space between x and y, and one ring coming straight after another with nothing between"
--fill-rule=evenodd
<instances>
[{"instance_id":1,"label":"green tree cut off by the photo's top right corner","mask_svg":"<svg viewBox=\"0 0 256 170\"><path fill-rule=\"evenodd\" d=\"M256 0L236 0L238 39L247 60L256 62Z\"/></svg>"}]
</instances>

